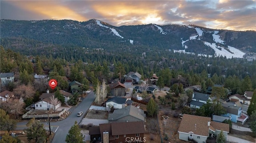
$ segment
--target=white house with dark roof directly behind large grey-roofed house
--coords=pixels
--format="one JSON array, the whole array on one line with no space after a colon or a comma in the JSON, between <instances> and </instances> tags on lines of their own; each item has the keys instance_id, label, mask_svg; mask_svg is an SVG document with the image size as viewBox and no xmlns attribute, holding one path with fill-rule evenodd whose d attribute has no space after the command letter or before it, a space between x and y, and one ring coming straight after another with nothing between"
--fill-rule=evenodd
<instances>
[{"instance_id":1,"label":"white house with dark roof directly behind large grey-roofed house","mask_svg":"<svg viewBox=\"0 0 256 143\"><path fill-rule=\"evenodd\" d=\"M133 101L122 97L113 97L106 101L106 108L110 110L110 107L114 109L122 109L128 105L132 105Z\"/></svg>"}]
</instances>

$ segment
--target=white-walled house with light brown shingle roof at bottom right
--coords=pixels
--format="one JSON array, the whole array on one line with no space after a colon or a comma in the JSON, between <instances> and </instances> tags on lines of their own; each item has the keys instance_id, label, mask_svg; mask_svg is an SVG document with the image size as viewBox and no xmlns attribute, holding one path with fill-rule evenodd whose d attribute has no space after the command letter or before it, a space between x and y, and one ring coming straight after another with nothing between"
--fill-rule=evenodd
<instances>
[{"instance_id":1,"label":"white-walled house with light brown shingle roof at bottom right","mask_svg":"<svg viewBox=\"0 0 256 143\"><path fill-rule=\"evenodd\" d=\"M216 137L223 131L228 137L229 124L211 121L209 117L184 114L178 129L179 139L196 143L216 141Z\"/></svg>"}]
</instances>

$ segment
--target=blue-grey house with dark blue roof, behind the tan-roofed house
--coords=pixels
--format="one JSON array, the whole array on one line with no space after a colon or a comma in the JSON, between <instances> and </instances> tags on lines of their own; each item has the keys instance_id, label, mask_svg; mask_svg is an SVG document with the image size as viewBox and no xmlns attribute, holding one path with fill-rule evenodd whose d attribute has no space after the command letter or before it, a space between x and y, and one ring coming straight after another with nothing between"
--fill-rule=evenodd
<instances>
[{"instance_id":1,"label":"blue-grey house with dark blue roof, behind the tan-roofed house","mask_svg":"<svg viewBox=\"0 0 256 143\"><path fill-rule=\"evenodd\" d=\"M210 94L194 92L192 95L192 101L189 104L191 108L200 108L206 104L207 100L212 100L210 98Z\"/></svg>"}]
</instances>

